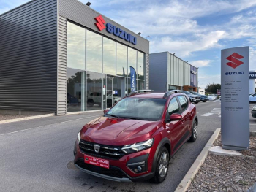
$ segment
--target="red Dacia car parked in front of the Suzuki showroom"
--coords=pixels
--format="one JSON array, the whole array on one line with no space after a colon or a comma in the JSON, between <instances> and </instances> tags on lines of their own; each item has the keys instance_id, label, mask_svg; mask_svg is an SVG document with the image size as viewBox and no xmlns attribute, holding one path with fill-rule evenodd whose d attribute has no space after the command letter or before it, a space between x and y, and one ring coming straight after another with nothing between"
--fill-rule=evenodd
<instances>
[{"instance_id":1,"label":"red Dacia car parked in front of the Suzuki showroom","mask_svg":"<svg viewBox=\"0 0 256 192\"><path fill-rule=\"evenodd\" d=\"M162 183L168 162L197 139L195 105L180 91L132 92L87 123L75 142L74 164L108 180Z\"/></svg>"}]
</instances>

